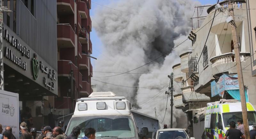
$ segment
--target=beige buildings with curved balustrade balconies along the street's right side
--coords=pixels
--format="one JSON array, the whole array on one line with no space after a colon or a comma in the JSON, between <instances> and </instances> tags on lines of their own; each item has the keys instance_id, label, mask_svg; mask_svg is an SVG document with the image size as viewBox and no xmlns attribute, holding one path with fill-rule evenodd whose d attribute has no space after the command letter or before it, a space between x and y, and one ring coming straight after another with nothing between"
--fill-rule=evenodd
<instances>
[{"instance_id":1,"label":"beige buildings with curved balustrade balconies along the street's right side","mask_svg":"<svg viewBox=\"0 0 256 139\"><path fill-rule=\"evenodd\" d=\"M240 46L240 59L244 77L244 86L248 101L255 107L256 75L255 70L255 1L232 0L236 33ZM228 0L221 1L222 10L215 12L215 5L209 6L207 16L199 28L191 30L188 39L191 40L191 51L180 55L180 64L174 65L174 79L181 82L182 93L174 95L175 108L182 109L188 118L188 132L193 136L193 127L198 125L195 115L204 111L207 102L215 102L220 99L234 98L233 93L239 95L237 81L236 59L232 31L226 22L228 15ZM254 10L254 11L253 11ZM208 31L210 34L206 41ZM206 41L206 44L205 44ZM201 58L199 59L202 53ZM186 73L186 74L183 74ZM176 74L176 75L175 75ZM183 76L182 76L183 75ZM187 95L186 92L189 92ZM195 92L193 97L193 93ZM197 96L200 94L203 96ZM189 98L194 99L193 108L188 105ZM192 97L191 97L192 96ZM202 98L203 97L203 98ZM201 103L201 104L200 104ZM198 104L196 106L196 104ZM195 107L196 106L196 107ZM202 121L204 118L201 119ZM201 125L200 125L201 126ZM201 133L200 133L201 135Z\"/></svg>"}]
</instances>

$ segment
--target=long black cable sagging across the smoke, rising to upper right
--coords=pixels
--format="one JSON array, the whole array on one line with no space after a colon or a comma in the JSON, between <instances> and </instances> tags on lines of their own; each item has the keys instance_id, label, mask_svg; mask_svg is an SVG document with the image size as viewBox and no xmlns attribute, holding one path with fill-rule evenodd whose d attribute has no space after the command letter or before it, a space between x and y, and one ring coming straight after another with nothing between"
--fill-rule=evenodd
<instances>
[{"instance_id":1,"label":"long black cable sagging across the smoke, rising to upper right","mask_svg":"<svg viewBox=\"0 0 256 139\"><path fill-rule=\"evenodd\" d=\"M216 12L215 12L215 13L216 13ZM215 13L214 13L214 17L215 17ZM220 12L219 12L218 14L220 14ZM217 14L217 15L218 15L218 14ZM217 16L217 15L216 15L216 16ZM210 23L210 22L214 19L214 17L213 17L209 22L207 22L204 26L206 26L208 23ZM202 26L198 31L200 31L202 28L204 28L204 26ZM198 31L196 31L195 33L197 33ZM181 45L182 43L184 43L186 40L188 40L188 38L185 39L184 41L182 41L182 42L181 42L179 45L177 45L176 47L173 47L170 51L167 51L167 52L164 53L163 55L160 55L160 56L157 57L156 59L154 59L154 60L152 60L152 61L150 61L150 62L148 62L148 63L146 63L146 64L144 64L144 65L142 65L142 66L140 66L140 67L137 67L137 68L135 68L135 69L132 69L132 70L129 70L129 71L120 73L120 74L116 74L116 75L112 75L112 76L105 76L105 77L113 77L113 76L117 76L117 75L122 75L122 74L125 74L125 73L128 73L128 72L131 72L131 71L133 71L133 70L139 69L139 68L141 68L141 67L143 67L143 66L145 66L145 65L148 65L149 63L154 62L154 61L156 61L157 59L163 57L164 55L170 53L173 49L175 49L175 48L177 48L178 46L180 46L180 45ZM194 69L194 71L195 71L195 69ZM193 71L193 72L194 72L194 71Z\"/></svg>"}]
</instances>

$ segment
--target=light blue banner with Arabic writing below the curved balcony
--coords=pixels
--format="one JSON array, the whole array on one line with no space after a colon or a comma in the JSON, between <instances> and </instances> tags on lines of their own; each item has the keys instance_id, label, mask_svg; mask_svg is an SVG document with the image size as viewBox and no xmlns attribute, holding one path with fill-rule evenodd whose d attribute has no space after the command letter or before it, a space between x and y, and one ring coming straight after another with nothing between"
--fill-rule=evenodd
<instances>
[{"instance_id":1,"label":"light blue banner with Arabic writing below the curved balcony","mask_svg":"<svg viewBox=\"0 0 256 139\"><path fill-rule=\"evenodd\" d=\"M237 74L229 76L223 74L219 80L211 82L211 93L212 97L222 96L225 90L236 90L239 89Z\"/></svg>"}]
</instances>

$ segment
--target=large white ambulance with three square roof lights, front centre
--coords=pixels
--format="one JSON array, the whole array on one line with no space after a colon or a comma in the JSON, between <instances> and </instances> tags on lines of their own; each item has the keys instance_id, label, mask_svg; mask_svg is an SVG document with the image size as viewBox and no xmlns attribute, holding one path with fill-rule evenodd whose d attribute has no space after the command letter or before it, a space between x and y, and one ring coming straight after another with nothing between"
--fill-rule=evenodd
<instances>
[{"instance_id":1,"label":"large white ambulance with three square roof lights, front centre","mask_svg":"<svg viewBox=\"0 0 256 139\"><path fill-rule=\"evenodd\" d=\"M125 97L116 97L113 92L92 92L88 98L77 100L66 135L70 135L75 126L81 128L78 139L84 137L85 128L94 128L97 139L138 139L139 136L147 135L146 127L138 133L130 109L131 104Z\"/></svg>"}]
</instances>

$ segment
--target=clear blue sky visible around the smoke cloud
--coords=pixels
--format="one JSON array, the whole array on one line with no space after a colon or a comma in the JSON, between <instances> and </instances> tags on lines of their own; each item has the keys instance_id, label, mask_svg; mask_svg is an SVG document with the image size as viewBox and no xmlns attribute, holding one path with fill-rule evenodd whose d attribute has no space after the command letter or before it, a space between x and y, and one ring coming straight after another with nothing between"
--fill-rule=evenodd
<instances>
[{"instance_id":1,"label":"clear blue sky visible around the smoke cloud","mask_svg":"<svg viewBox=\"0 0 256 139\"><path fill-rule=\"evenodd\" d=\"M108 5L112 2L116 2L116 1L120 1L120 0L92 0L92 9L90 10L90 16L92 19L92 32L90 33L90 37L91 37L91 41L92 41L92 56L93 57L98 57L99 55L101 55L102 53L102 42L100 40L100 38L97 35L97 32L95 31L93 24L97 24L94 20L94 14L97 11L97 9L102 8L101 5ZM217 0L198 0L202 5L211 5L211 4L216 4ZM97 4L96 4L97 3ZM100 5L99 5L100 4ZM118 9L118 7L111 7L111 8L115 8ZM111 9L109 9L111 10ZM109 57L108 57L109 58ZM114 59L111 59L112 61L115 61ZM92 62L92 67L94 67L94 61L95 59L91 58L91 62Z\"/></svg>"}]
</instances>

